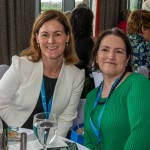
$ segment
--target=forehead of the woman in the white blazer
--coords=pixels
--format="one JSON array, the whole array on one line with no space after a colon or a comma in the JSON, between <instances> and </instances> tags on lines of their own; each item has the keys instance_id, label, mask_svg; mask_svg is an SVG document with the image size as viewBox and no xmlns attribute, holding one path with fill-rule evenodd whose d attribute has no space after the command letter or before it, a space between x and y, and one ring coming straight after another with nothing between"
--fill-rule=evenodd
<instances>
[{"instance_id":1,"label":"forehead of the woman in the white blazer","mask_svg":"<svg viewBox=\"0 0 150 150\"><path fill-rule=\"evenodd\" d=\"M41 26L39 32L41 32L43 30L47 31L47 32L49 32L49 31L51 31L51 32L64 31L64 27L58 20L53 19L53 20L49 20L49 21L45 22Z\"/></svg>"}]
</instances>

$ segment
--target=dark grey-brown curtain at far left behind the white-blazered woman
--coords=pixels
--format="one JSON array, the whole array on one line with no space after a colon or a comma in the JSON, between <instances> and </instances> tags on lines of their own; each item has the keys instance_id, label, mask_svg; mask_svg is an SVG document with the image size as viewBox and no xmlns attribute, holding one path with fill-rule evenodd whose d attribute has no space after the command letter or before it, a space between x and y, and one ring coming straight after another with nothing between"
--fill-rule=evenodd
<instances>
[{"instance_id":1,"label":"dark grey-brown curtain at far left behind the white-blazered woman","mask_svg":"<svg viewBox=\"0 0 150 150\"><path fill-rule=\"evenodd\" d=\"M27 48L35 19L35 0L0 0L0 64Z\"/></svg>"}]
</instances>

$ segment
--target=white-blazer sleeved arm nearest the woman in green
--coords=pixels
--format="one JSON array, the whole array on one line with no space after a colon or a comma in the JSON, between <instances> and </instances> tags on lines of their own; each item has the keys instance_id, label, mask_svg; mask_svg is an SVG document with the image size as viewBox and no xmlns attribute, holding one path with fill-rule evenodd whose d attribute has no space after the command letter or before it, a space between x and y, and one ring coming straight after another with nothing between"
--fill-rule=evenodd
<instances>
[{"instance_id":1,"label":"white-blazer sleeved arm nearest the woman in green","mask_svg":"<svg viewBox=\"0 0 150 150\"><path fill-rule=\"evenodd\" d=\"M84 71L78 72L75 80L73 81L73 87L71 89L71 95L69 104L65 108L64 112L58 119L58 135L65 137L72 126L73 120L77 116L77 106L80 101L80 96L84 85Z\"/></svg>"}]
</instances>

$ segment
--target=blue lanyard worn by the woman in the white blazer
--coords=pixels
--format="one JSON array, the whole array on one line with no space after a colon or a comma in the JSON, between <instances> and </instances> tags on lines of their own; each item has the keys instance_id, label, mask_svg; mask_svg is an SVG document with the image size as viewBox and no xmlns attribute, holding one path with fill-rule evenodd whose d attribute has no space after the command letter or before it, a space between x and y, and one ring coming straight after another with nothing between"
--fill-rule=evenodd
<instances>
[{"instance_id":1,"label":"blue lanyard worn by the woman in the white blazer","mask_svg":"<svg viewBox=\"0 0 150 150\"><path fill-rule=\"evenodd\" d=\"M41 99L42 99L42 105L43 105L44 112L51 112L53 96L50 98L48 107L47 107L45 88L44 88L44 79L42 80L42 86L41 86Z\"/></svg>"}]
</instances>

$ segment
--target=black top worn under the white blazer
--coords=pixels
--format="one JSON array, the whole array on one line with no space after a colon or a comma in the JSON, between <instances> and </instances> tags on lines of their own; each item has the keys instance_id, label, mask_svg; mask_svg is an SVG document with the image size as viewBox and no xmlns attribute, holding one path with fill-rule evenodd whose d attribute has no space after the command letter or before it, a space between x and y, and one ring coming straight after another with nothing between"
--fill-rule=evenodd
<instances>
[{"instance_id":1,"label":"black top worn under the white blazer","mask_svg":"<svg viewBox=\"0 0 150 150\"><path fill-rule=\"evenodd\" d=\"M48 78L46 76L43 76L43 78L44 78L46 104L48 106L49 100L54 93L57 79ZM36 113L40 113L40 112L44 112L43 105L42 105L42 99L41 99L41 93L39 94L37 104L36 104L32 114L29 116L27 121L23 124L22 128L33 129L33 117Z\"/></svg>"}]
</instances>

